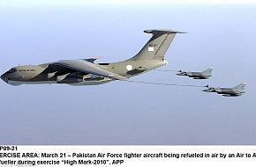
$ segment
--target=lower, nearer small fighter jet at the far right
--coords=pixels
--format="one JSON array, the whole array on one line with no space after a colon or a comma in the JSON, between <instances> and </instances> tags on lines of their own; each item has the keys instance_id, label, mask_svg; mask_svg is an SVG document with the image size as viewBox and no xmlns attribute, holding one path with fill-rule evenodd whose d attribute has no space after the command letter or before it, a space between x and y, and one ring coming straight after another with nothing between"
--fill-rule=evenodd
<instances>
[{"instance_id":1,"label":"lower, nearer small fighter jet at the far right","mask_svg":"<svg viewBox=\"0 0 256 167\"><path fill-rule=\"evenodd\" d=\"M220 88L220 87L210 87L207 90L207 92L216 92L218 94L222 94L224 97L237 97L241 96L243 93L245 93L245 85L246 83L239 84L233 88Z\"/></svg>"}]
</instances>

